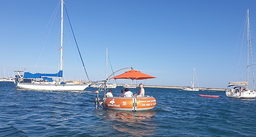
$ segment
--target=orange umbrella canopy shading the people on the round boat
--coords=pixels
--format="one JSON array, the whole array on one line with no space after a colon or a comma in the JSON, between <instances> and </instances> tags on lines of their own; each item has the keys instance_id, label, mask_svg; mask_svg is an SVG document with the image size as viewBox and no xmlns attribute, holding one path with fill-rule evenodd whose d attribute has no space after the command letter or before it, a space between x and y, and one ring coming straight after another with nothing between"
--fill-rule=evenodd
<instances>
[{"instance_id":1,"label":"orange umbrella canopy shading the people on the round boat","mask_svg":"<svg viewBox=\"0 0 256 137\"><path fill-rule=\"evenodd\" d=\"M130 71L126 71L125 73L117 75L112 78L113 79L143 80L143 79L156 78L156 77L153 77L148 74L144 74L144 73L141 73L140 71L132 69ZM110 79L112 79L112 78L110 78Z\"/></svg>"}]
</instances>

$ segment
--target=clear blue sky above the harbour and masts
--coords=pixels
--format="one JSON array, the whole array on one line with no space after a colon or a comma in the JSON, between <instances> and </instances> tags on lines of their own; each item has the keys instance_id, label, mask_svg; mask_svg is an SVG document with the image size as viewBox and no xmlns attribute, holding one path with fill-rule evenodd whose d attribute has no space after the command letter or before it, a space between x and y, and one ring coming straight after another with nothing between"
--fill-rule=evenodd
<instances>
[{"instance_id":1,"label":"clear blue sky above the harbour and masts","mask_svg":"<svg viewBox=\"0 0 256 137\"><path fill-rule=\"evenodd\" d=\"M2 77L4 67L7 77L20 68L31 73L58 71L59 14L35 68L48 33L47 24L58 2L0 1ZM87 74L93 81L106 77L108 47L113 71L133 67L157 77L145 84L190 86L195 67L200 87L225 88L230 81L236 81L236 45L247 8L252 32L256 28L254 0L66 0L65 4ZM67 20L64 16L65 76L87 79ZM110 65L108 68L110 74Z\"/></svg>"}]
</instances>

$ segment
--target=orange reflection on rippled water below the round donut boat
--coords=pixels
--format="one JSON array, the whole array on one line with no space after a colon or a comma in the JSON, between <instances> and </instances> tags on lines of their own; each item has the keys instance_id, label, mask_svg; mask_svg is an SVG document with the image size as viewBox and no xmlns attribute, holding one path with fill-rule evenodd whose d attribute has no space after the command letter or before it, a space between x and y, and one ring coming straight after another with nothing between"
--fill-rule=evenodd
<instances>
[{"instance_id":1,"label":"orange reflection on rippled water below the round donut boat","mask_svg":"<svg viewBox=\"0 0 256 137\"><path fill-rule=\"evenodd\" d=\"M98 114L98 117L107 119L114 129L121 133L128 133L129 136L151 136L157 132L153 117L155 114L154 110L133 112L105 109L104 115Z\"/></svg>"}]
</instances>

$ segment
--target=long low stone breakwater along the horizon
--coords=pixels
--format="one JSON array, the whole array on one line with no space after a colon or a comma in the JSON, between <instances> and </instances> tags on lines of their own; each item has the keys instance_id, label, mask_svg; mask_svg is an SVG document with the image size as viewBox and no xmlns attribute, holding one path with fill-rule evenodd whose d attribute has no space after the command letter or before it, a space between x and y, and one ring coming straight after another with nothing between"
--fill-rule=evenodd
<instances>
[{"instance_id":1,"label":"long low stone breakwater along the horizon","mask_svg":"<svg viewBox=\"0 0 256 137\"><path fill-rule=\"evenodd\" d=\"M117 84L118 86L125 86L126 84ZM136 85L133 85L136 86ZM158 87L158 88L176 88L183 89L181 86L160 86L160 85L143 85L144 87ZM225 91L225 88L214 88L214 87L199 87L199 90L212 90L212 91Z\"/></svg>"}]
</instances>

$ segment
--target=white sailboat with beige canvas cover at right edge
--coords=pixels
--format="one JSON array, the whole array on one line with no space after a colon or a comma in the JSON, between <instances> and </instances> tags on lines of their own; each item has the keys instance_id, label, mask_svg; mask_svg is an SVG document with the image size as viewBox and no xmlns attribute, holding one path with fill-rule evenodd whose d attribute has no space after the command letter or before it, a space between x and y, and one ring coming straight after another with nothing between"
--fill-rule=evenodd
<instances>
[{"instance_id":1,"label":"white sailboat with beige canvas cover at right edge","mask_svg":"<svg viewBox=\"0 0 256 137\"><path fill-rule=\"evenodd\" d=\"M246 81L238 81L238 82L229 82L229 85L225 90L226 96L229 98L255 98L256 97L251 40L252 39L250 36L249 8L248 8L247 9L247 80ZM249 43L250 43L250 46L249 46ZM251 64L252 65L249 65L249 49L251 50ZM248 68L249 68L249 66L252 67L254 90L250 90L249 86L248 86Z\"/></svg>"}]
</instances>

